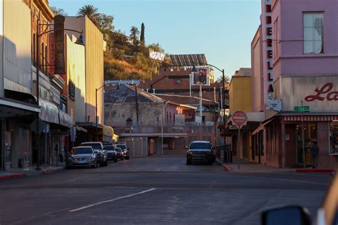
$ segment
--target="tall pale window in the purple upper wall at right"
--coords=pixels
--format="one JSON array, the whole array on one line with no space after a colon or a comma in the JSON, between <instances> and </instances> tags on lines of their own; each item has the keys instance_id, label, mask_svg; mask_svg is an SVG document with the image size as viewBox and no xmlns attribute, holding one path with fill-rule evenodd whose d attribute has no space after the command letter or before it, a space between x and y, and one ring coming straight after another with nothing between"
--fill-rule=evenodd
<instances>
[{"instance_id":1,"label":"tall pale window in the purple upper wall at right","mask_svg":"<svg viewBox=\"0 0 338 225\"><path fill-rule=\"evenodd\" d=\"M322 13L303 14L304 54L324 53L324 27Z\"/></svg>"}]
</instances>

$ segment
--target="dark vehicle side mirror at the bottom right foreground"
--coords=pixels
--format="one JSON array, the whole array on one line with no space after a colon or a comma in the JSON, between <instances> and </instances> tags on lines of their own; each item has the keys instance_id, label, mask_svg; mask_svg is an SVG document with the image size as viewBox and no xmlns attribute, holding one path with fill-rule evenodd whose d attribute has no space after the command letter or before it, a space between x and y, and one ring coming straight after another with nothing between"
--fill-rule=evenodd
<instances>
[{"instance_id":1,"label":"dark vehicle side mirror at the bottom right foreground","mask_svg":"<svg viewBox=\"0 0 338 225\"><path fill-rule=\"evenodd\" d=\"M302 206L285 206L262 213L262 225L311 225L309 211Z\"/></svg>"}]
</instances>

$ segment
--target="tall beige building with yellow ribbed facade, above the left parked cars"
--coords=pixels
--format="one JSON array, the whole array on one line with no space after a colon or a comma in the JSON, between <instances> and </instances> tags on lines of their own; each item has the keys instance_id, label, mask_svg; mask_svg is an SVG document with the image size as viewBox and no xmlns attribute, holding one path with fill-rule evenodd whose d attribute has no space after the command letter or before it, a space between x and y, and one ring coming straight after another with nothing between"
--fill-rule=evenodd
<instances>
[{"instance_id":1,"label":"tall beige building with yellow ribbed facade, above the left parked cars","mask_svg":"<svg viewBox=\"0 0 338 225\"><path fill-rule=\"evenodd\" d=\"M84 92L81 88L81 95L85 96L86 109L82 108L83 105L76 105L76 112L78 112L77 124L88 130L88 138L93 139L96 135L96 104L98 116L98 128L102 130L104 122L103 118L103 34L88 19L87 16L67 16L65 21L66 29L73 29L82 31L83 41L85 43L85 78L86 89ZM68 35L76 35L78 33L73 31L66 31ZM81 80L81 85L83 85ZM96 102L96 88L97 102ZM83 117L83 113L85 115Z\"/></svg>"}]
</instances>

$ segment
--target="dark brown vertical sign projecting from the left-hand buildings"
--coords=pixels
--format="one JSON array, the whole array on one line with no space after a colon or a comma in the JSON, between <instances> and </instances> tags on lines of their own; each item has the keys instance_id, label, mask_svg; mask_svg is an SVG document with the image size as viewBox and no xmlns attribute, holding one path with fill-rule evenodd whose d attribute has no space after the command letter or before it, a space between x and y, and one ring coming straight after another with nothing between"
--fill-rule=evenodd
<instances>
[{"instance_id":1,"label":"dark brown vertical sign projecting from the left-hand buildings","mask_svg":"<svg viewBox=\"0 0 338 225\"><path fill-rule=\"evenodd\" d=\"M64 74L65 71L65 36L64 36L64 16L58 15L54 17L54 73Z\"/></svg>"}]
</instances>

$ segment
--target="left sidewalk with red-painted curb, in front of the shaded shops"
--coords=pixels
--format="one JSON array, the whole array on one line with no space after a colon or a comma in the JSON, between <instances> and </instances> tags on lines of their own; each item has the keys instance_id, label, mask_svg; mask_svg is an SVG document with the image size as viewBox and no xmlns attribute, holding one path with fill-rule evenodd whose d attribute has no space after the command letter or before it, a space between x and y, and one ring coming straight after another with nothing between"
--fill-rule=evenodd
<instances>
[{"instance_id":1,"label":"left sidewalk with red-painted curb, in front of the shaded shops","mask_svg":"<svg viewBox=\"0 0 338 225\"><path fill-rule=\"evenodd\" d=\"M40 166L41 170L36 170L34 167L24 167L24 168L11 168L6 171L0 171L0 180L9 179L14 177L26 177L26 176L38 176L41 174L48 174L65 168L64 162L59 162L58 167L52 167L44 165Z\"/></svg>"}]
</instances>

